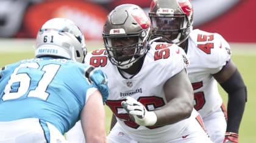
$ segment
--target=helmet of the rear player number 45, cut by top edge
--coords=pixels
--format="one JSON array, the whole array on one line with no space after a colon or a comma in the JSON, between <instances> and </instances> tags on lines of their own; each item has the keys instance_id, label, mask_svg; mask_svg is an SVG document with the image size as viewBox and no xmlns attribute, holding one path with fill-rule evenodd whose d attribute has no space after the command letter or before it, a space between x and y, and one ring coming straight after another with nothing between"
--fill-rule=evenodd
<instances>
[{"instance_id":1,"label":"helmet of the rear player number 45, cut by top edge","mask_svg":"<svg viewBox=\"0 0 256 143\"><path fill-rule=\"evenodd\" d=\"M190 0L153 0L149 12L152 38L162 36L179 45L193 30L193 13Z\"/></svg>"}]
</instances>

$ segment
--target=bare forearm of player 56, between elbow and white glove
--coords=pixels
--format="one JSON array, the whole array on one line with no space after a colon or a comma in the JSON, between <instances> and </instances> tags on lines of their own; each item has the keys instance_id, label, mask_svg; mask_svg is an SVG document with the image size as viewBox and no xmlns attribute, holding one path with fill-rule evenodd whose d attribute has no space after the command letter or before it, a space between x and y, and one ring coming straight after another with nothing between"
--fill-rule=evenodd
<instances>
[{"instance_id":1,"label":"bare forearm of player 56, between elbow and white glove","mask_svg":"<svg viewBox=\"0 0 256 143\"><path fill-rule=\"evenodd\" d=\"M174 124L190 117L193 110L191 101L173 99L160 110L155 110L157 115L156 126Z\"/></svg>"}]
</instances>

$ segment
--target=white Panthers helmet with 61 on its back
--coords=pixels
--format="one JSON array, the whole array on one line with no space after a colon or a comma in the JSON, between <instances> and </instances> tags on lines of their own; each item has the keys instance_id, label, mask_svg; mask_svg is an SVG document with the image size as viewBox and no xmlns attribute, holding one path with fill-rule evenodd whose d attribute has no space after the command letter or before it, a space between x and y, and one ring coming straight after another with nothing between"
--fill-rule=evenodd
<instances>
[{"instance_id":1,"label":"white Panthers helmet with 61 on its back","mask_svg":"<svg viewBox=\"0 0 256 143\"><path fill-rule=\"evenodd\" d=\"M35 57L59 56L82 62L87 53L84 35L65 18L53 18L45 22L37 34Z\"/></svg>"}]
</instances>

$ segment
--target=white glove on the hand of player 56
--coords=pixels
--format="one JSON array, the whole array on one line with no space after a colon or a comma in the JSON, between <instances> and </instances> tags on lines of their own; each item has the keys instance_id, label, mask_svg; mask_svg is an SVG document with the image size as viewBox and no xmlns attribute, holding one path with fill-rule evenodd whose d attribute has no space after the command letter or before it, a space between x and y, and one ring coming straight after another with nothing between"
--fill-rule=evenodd
<instances>
[{"instance_id":1,"label":"white glove on the hand of player 56","mask_svg":"<svg viewBox=\"0 0 256 143\"><path fill-rule=\"evenodd\" d=\"M154 111L147 111L144 105L130 96L126 98L126 101L121 102L121 104L130 118L138 125L152 126L157 122L157 115L155 115Z\"/></svg>"}]
</instances>

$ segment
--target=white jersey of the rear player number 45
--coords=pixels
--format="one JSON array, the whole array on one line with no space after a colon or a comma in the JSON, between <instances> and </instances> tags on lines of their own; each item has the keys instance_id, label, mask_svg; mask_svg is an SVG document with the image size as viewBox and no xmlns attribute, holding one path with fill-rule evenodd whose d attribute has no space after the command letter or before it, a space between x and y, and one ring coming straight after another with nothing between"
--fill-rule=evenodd
<instances>
[{"instance_id":1,"label":"white jersey of the rear player number 45","mask_svg":"<svg viewBox=\"0 0 256 143\"><path fill-rule=\"evenodd\" d=\"M194 88L194 108L204 118L221 107L222 99L213 74L230 60L230 47L218 33L193 30L188 39L188 77Z\"/></svg>"}]
</instances>

